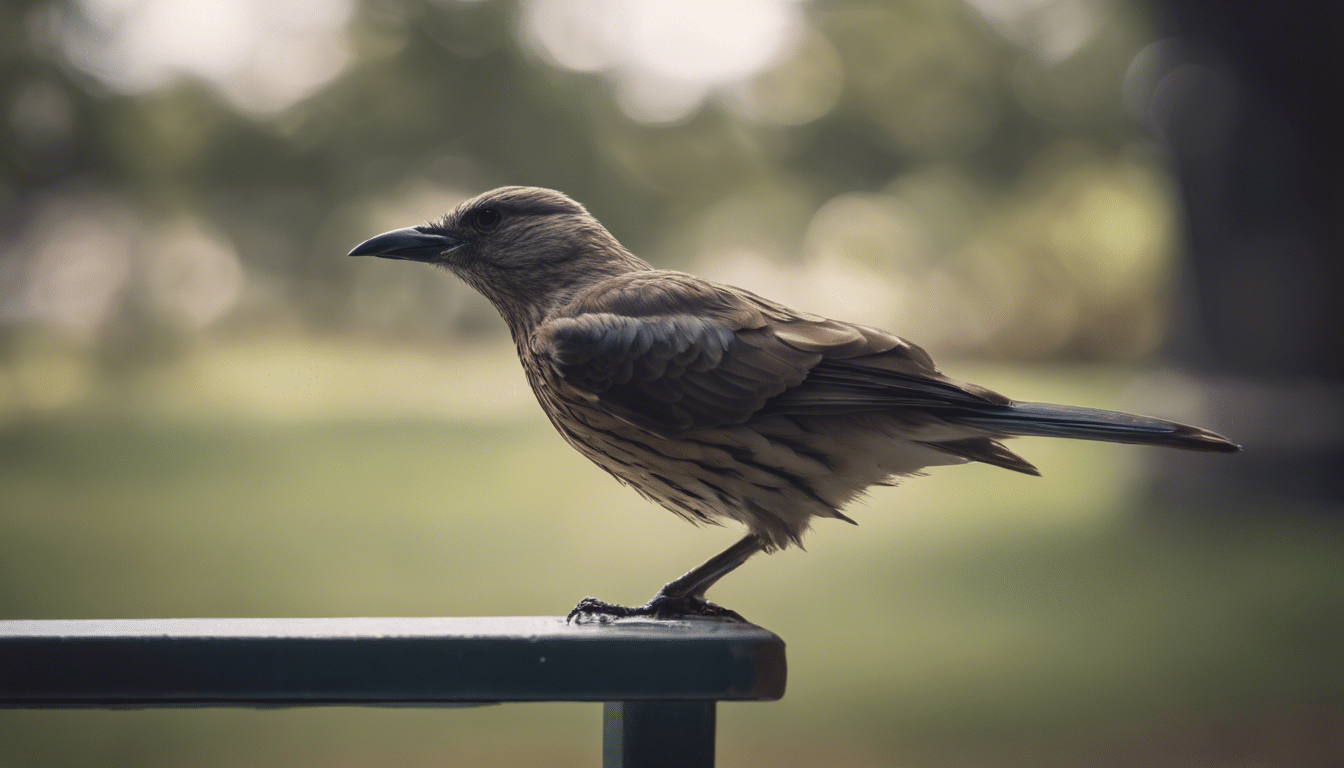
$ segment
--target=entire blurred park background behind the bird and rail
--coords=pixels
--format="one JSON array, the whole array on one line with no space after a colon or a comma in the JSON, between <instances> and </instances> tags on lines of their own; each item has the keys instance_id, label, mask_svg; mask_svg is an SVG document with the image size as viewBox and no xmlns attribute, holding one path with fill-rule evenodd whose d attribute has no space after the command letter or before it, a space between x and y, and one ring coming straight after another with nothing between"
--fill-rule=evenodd
<instances>
[{"instance_id":1,"label":"entire blurred park background behind the bird and rail","mask_svg":"<svg viewBox=\"0 0 1344 768\"><path fill-rule=\"evenodd\" d=\"M1320 7L1317 7L1320 5ZM569 449L493 309L348 260L500 184L659 266L1227 456L1024 438L715 599L723 765L1344 761L1332 4L9 0L0 617L559 615L737 538ZM8 765L595 765L589 705L0 712Z\"/></svg>"}]
</instances>

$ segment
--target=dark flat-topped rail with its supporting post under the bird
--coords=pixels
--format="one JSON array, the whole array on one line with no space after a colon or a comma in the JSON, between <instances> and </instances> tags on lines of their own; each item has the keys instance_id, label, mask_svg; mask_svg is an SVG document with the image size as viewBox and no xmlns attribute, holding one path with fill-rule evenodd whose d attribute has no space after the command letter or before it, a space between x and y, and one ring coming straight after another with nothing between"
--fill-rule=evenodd
<instances>
[{"instance_id":1,"label":"dark flat-topped rail with its supporting post under the bird","mask_svg":"<svg viewBox=\"0 0 1344 768\"><path fill-rule=\"evenodd\" d=\"M0 621L0 707L591 701L606 768L714 765L716 702L784 686L784 640L719 619Z\"/></svg>"}]
</instances>

